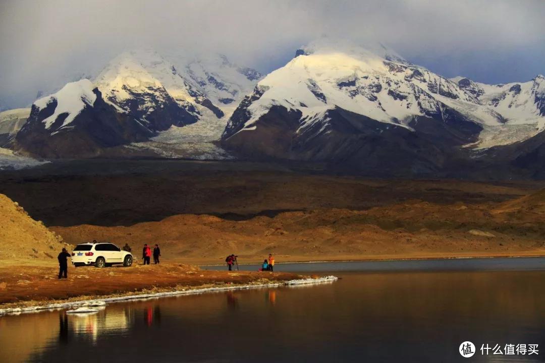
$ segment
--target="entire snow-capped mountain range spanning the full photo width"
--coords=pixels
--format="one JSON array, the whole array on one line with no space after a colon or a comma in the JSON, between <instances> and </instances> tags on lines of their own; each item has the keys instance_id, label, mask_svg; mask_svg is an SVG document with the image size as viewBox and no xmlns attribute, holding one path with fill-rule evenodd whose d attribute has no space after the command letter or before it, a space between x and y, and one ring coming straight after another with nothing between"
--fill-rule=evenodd
<instances>
[{"instance_id":1,"label":"entire snow-capped mountain range spanning the full photo width","mask_svg":"<svg viewBox=\"0 0 545 363\"><path fill-rule=\"evenodd\" d=\"M545 170L543 76L447 79L381 44L320 39L265 77L217 54L129 51L26 112L26 122L22 110L0 114L0 141L48 158L273 158L403 176Z\"/></svg>"}]
</instances>

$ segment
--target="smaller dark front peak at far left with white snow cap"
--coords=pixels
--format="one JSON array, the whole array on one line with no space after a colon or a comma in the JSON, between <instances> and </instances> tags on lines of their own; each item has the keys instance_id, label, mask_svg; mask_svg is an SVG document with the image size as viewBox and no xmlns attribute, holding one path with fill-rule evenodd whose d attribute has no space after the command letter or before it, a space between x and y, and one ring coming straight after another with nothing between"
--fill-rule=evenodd
<instances>
[{"instance_id":1,"label":"smaller dark front peak at far left with white snow cap","mask_svg":"<svg viewBox=\"0 0 545 363\"><path fill-rule=\"evenodd\" d=\"M89 157L105 147L143 141L149 127L105 102L88 79L66 84L32 105L15 137L15 149L41 157Z\"/></svg>"}]
</instances>

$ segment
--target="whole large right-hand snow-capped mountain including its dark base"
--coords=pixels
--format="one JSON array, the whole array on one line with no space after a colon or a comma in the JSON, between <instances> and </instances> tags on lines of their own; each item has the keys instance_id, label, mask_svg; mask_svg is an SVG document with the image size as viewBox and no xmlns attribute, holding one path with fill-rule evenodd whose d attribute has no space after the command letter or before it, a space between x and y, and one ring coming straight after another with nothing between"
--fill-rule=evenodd
<instances>
[{"instance_id":1,"label":"whole large right-hand snow-capped mountain including its dark base","mask_svg":"<svg viewBox=\"0 0 545 363\"><path fill-rule=\"evenodd\" d=\"M479 145L483 131L523 122L483 95L387 47L319 40L257 84L229 119L222 144L243 157L433 173L449 159L469 158L463 146ZM535 134L544 118L532 115Z\"/></svg>"}]
</instances>

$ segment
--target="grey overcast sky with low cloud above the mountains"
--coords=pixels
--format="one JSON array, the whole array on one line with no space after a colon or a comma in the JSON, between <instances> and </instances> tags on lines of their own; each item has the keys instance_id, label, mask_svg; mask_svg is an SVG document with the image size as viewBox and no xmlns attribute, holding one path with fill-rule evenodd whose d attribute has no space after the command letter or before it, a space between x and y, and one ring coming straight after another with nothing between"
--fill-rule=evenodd
<instances>
[{"instance_id":1,"label":"grey overcast sky with low cloud above the mountains","mask_svg":"<svg viewBox=\"0 0 545 363\"><path fill-rule=\"evenodd\" d=\"M381 41L446 77L545 73L543 0L0 0L0 107L98 72L142 46L218 51L267 73L321 35Z\"/></svg>"}]
</instances>

